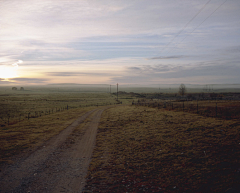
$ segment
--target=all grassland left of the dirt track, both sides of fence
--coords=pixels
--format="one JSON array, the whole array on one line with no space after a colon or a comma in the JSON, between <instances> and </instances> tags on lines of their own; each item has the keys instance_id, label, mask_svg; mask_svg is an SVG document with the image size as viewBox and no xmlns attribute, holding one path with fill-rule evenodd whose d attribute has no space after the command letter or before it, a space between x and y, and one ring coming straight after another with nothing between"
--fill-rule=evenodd
<instances>
[{"instance_id":1,"label":"all grassland left of the dirt track, both sides of fence","mask_svg":"<svg viewBox=\"0 0 240 193\"><path fill-rule=\"evenodd\" d=\"M116 104L109 93L14 92L0 95L0 163L37 147L83 113ZM131 100L121 99L129 104Z\"/></svg>"}]
</instances>

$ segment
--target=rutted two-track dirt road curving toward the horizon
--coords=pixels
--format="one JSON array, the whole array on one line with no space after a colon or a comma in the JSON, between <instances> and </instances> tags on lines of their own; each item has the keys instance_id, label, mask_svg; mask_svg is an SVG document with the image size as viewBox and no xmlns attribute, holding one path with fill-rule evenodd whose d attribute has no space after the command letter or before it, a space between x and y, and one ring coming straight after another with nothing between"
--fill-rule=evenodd
<instances>
[{"instance_id":1,"label":"rutted two-track dirt road curving toward the horizon","mask_svg":"<svg viewBox=\"0 0 240 193\"><path fill-rule=\"evenodd\" d=\"M0 192L82 192L104 109L79 117L28 157L0 172ZM74 129L84 123L81 131Z\"/></svg>"}]
</instances>

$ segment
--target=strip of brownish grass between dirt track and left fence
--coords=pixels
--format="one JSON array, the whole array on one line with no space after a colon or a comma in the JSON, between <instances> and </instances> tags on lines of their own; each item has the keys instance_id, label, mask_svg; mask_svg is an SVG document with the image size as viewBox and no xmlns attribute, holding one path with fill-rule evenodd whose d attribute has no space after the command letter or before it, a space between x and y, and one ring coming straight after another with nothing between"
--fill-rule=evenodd
<instances>
[{"instance_id":1,"label":"strip of brownish grass between dirt track and left fence","mask_svg":"<svg viewBox=\"0 0 240 193\"><path fill-rule=\"evenodd\" d=\"M11 163L13 156L24 150L33 150L94 108L70 109L0 128L0 164Z\"/></svg>"}]
</instances>

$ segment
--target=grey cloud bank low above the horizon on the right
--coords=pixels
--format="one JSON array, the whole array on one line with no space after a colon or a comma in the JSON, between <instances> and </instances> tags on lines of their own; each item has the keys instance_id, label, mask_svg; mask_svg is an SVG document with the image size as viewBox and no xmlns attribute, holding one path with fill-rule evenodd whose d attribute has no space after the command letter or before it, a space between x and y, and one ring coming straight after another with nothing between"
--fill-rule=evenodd
<instances>
[{"instance_id":1,"label":"grey cloud bank low above the horizon on the right","mask_svg":"<svg viewBox=\"0 0 240 193\"><path fill-rule=\"evenodd\" d=\"M140 78L143 78L141 82L153 82L160 79L175 79L185 80L188 81L188 83L191 83L189 80L198 79L198 77L203 77L204 80L202 81L211 81L213 77L216 80L221 81L222 77L229 77L229 80L224 78L224 81L227 81L228 83L238 83L240 80L240 66L234 62L226 64L225 61L222 61L221 63L216 63L215 61L200 62L194 65L188 64L184 66L143 65L141 67L137 67L137 70L135 67L127 68L126 70L128 72L126 76L122 76L122 78L116 77L114 79L118 81L122 80L124 82L127 80L137 82L140 81ZM130 74L132 74L132 76L129 76ZM215 83L217 83L217 81Z\"/></svg>"}]
</instances>

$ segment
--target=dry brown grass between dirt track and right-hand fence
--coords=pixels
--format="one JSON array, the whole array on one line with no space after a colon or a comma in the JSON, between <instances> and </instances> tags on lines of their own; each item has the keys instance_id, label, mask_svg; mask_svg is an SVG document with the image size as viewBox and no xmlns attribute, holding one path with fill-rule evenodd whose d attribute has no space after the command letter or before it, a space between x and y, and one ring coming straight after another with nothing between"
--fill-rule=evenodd
<instances>
[{"instance_id":1,"label":"dry brown grass between dirt track and right-hand fence","mask_svg":"<svg viewBox=\"0 0 240 193\"><path fill-rule=\"evenodd\" d=\"M237 120L120 106L104 111L85 192L225 192L240 182Z\"/></svg>"}]
</instances>

